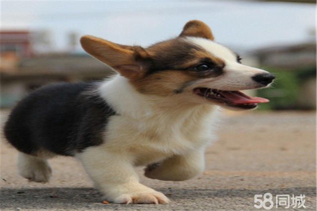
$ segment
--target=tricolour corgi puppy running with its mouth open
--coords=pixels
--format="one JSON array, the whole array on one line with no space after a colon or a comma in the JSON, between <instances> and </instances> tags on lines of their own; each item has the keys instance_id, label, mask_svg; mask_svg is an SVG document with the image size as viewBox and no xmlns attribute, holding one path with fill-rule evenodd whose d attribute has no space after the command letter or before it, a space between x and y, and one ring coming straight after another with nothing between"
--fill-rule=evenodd
<instances>
[{"instance_id":1,"label":"tricolour corgi puppy running with its mouth open","mask_svg":"<svg viewBox=\"0 0 317 211\"><path fill-rule=\"evenodd\" d=\"M84 50L117 74L103 82L44 86L12 110L6 139L19 151L21 176L48 182L49 158L78 158L105 199L113 203L168 203L139 183L136 166L152 179L182 181L204 170L218 108L253 109L268 100L239 90L267 87L274 75L241 64L213 41L203 22L148 48L93 36Z\"/></svg>"}]
</instances>

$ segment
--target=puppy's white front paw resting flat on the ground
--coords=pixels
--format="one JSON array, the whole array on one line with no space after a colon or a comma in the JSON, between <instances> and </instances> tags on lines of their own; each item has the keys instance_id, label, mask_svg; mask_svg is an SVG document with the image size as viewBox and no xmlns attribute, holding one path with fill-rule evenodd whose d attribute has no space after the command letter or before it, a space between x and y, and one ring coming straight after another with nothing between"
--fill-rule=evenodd
<instances>
[{"instance_id":1,"label":"puppy's white front paw resting flat on the ground","mask_svg":"<svg viewBox=\"0 0 317 211\"><path fill-rule=\"evenodd\" d=\"M117 197L113 202L117 204L166 204L170 203L170 200L164 194L153 191L124 194Z\"/></svg>"}]
</instances>

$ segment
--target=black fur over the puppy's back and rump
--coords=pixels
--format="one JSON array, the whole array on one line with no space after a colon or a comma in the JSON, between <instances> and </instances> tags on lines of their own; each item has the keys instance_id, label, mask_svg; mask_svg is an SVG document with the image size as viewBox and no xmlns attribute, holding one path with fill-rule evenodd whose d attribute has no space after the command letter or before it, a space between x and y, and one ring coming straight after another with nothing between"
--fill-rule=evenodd
<instances>
[{"instance_id":1,"label":"black fur over the puppy's back and rump","mask_svg":"<svg viewBox=\"0 0 317 211\"><path fill-rule=\"evenodd\" d=\"M73 156L103 143L107 120L115 112L90 93L95 86L61 83L34 91L12 110L4 126L6 139L31 155L45 150Z\"/></svg>"}]
</instances>

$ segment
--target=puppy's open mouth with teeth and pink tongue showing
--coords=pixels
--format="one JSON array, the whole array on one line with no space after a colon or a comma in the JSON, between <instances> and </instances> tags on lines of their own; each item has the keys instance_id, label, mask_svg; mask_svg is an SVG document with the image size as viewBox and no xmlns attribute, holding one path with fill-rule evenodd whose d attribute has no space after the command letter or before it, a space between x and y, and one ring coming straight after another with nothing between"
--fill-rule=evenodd
<instances>
[{"instance_id":1,"label":"puppy's open mouth with teeth and pink tongue showing","mask_svg":"<svg viewBox=\"0 0 317 211\"><path fill-rule=\"evenodd\" d=\"M195 88L196 95L211 99L213 101L224 103L227 106L239 107L243 109L252 109L259 103L267 103L269 100L259 97L250 97L239 91L223 91L209 88Z\"/></svg>"}]
</instances>

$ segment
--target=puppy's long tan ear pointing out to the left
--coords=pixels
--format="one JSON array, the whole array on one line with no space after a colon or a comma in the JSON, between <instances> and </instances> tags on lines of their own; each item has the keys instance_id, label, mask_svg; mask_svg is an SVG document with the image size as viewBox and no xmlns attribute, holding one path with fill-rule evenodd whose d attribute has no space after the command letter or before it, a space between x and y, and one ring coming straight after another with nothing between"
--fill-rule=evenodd
<instances>
[{"instance_id":1,"label":"puppy's long tan ear pointing out to the left","mask_svg":"<svg viewBox=\"0 0 317 211\"><path fill-rule=\"evenodd\" d=\"M150 65L151 57L141 47L119 45L90 35L81 37L80 43L87 53L127 78L145 75Z\"/></svg>"}]
</instances>

